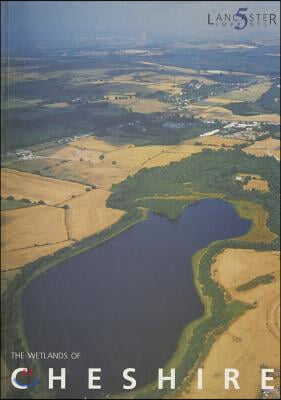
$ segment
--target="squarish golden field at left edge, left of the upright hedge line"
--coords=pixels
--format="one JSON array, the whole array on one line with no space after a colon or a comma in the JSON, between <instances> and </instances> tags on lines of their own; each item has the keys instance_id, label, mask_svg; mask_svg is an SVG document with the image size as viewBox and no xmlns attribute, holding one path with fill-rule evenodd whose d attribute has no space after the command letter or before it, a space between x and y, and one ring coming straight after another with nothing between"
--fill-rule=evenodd
<instances>
[{"instance_id":1,"label":"squarish golden field at left edge, left of the upright hedge line","mask_svg":"<svg viewBox=\"0 0 281 400\"><path fill-rule=\"evenodd\" d=\"M67 240L65 210L49 206L2 211L4 252Z\"/></svg>"}]
</instances>

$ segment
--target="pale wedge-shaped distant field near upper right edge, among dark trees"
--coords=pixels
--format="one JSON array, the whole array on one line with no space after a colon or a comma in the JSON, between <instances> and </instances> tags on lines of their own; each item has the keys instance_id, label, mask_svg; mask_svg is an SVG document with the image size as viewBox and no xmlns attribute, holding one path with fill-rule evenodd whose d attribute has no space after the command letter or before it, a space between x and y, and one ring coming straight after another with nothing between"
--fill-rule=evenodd
<instances>
[{"instance_id":1,"label":"pale wedge-shaped distant field near upper right edge, among dark trees","mask_svg":"<svg viewBox=\"0 0 281 400\"><path fill-rule=\"evenodd\" d=\"M232 90L231 92L224 93L220 97L222 99L239 100L239 101L257 101L264 93L266 93L272 86L270 81L257 83L245 89Z\"/></svg>"}]
</instances>

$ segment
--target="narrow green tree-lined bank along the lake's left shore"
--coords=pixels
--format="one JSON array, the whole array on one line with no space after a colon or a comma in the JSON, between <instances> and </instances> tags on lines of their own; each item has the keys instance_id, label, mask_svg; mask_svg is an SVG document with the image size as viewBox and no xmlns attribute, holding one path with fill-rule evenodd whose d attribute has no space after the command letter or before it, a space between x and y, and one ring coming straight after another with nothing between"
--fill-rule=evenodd
<instances>
[{"instance_id":1,"label":"narrow green tree-lined bank along the lake's left shore","mask_svg":"<svg viewBox=\"0 0 281 400\"><path fill-rule=\"evenodd\" d=\"M135 209L125 214L116 224L107 229L90 236L69 247L58 250L53 255L41 257L40 259L26 264L7 284L7 288L2 294L1 302L1 346L2 357L8 370L14 370L20 367L20 361L12 359L12 351L27 352L28 343L25 335L24 321L21 313L21 296L23 290L31 283L33 279L46 272L50 268L57 266L63 261L78 256L80 253L90 250L110 239L119 235L121 232L130 229L135 224L146 220L147 210L143 208ZM16 349L16 350L15 350ZM40 365L40 362L32 360L30 368L40 375L41 385L35 386L31 398L53 398L54 393L48 390L42 390L46 386L46 376ZM21 398L19 391L11 388L9 396L6 398Z\"/></svg>"}]
</instances>

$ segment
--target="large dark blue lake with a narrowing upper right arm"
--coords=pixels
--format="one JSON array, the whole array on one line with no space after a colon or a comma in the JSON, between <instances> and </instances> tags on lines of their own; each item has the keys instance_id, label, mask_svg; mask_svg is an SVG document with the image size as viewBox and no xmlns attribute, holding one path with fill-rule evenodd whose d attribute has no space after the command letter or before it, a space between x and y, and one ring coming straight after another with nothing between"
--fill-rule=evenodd
<instances>
[{"instance_id":1,"label":"large dark blue lake with a narrowing upper right arm","mask_svg":"<svg viewBox=\"0 0 281 400\"><path fill-rule=\"evenodd\" d=\"M81 352L58 398L120 392L122 370L136 368L138 387L157 376L183 328L203 314L192 255L210 242L245 234L250 221L223 200L186 208L177 221L149 214L110 241L34 279L22 308L30 350ZM102 368L102 392L87 392L87 369Z\"/></svg>"}]
</instances>

